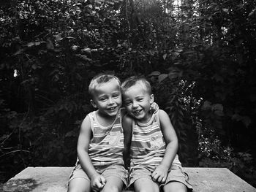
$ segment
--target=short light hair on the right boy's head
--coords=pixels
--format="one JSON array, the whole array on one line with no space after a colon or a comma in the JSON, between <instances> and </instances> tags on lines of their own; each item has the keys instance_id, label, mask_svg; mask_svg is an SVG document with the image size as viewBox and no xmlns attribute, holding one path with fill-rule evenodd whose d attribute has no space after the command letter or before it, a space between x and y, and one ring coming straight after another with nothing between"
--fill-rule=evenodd
<instances>
[{"instance_id":1,"label":"short light hair on the right boy's head","mask_svg":"<svg viewBox=\"0 0 256 192\"><path fill-rule=\"evenodd\" d=\"M131 88L133 85L136 85L137 83L140 84L142 88L148 92L149 95L151 95L152 89L150 83L144 77L137 76L132 76L127 80L124 80L124 82L121 84L122 93L125 93L129 88Z\"/></svg>"}]
</instances>

